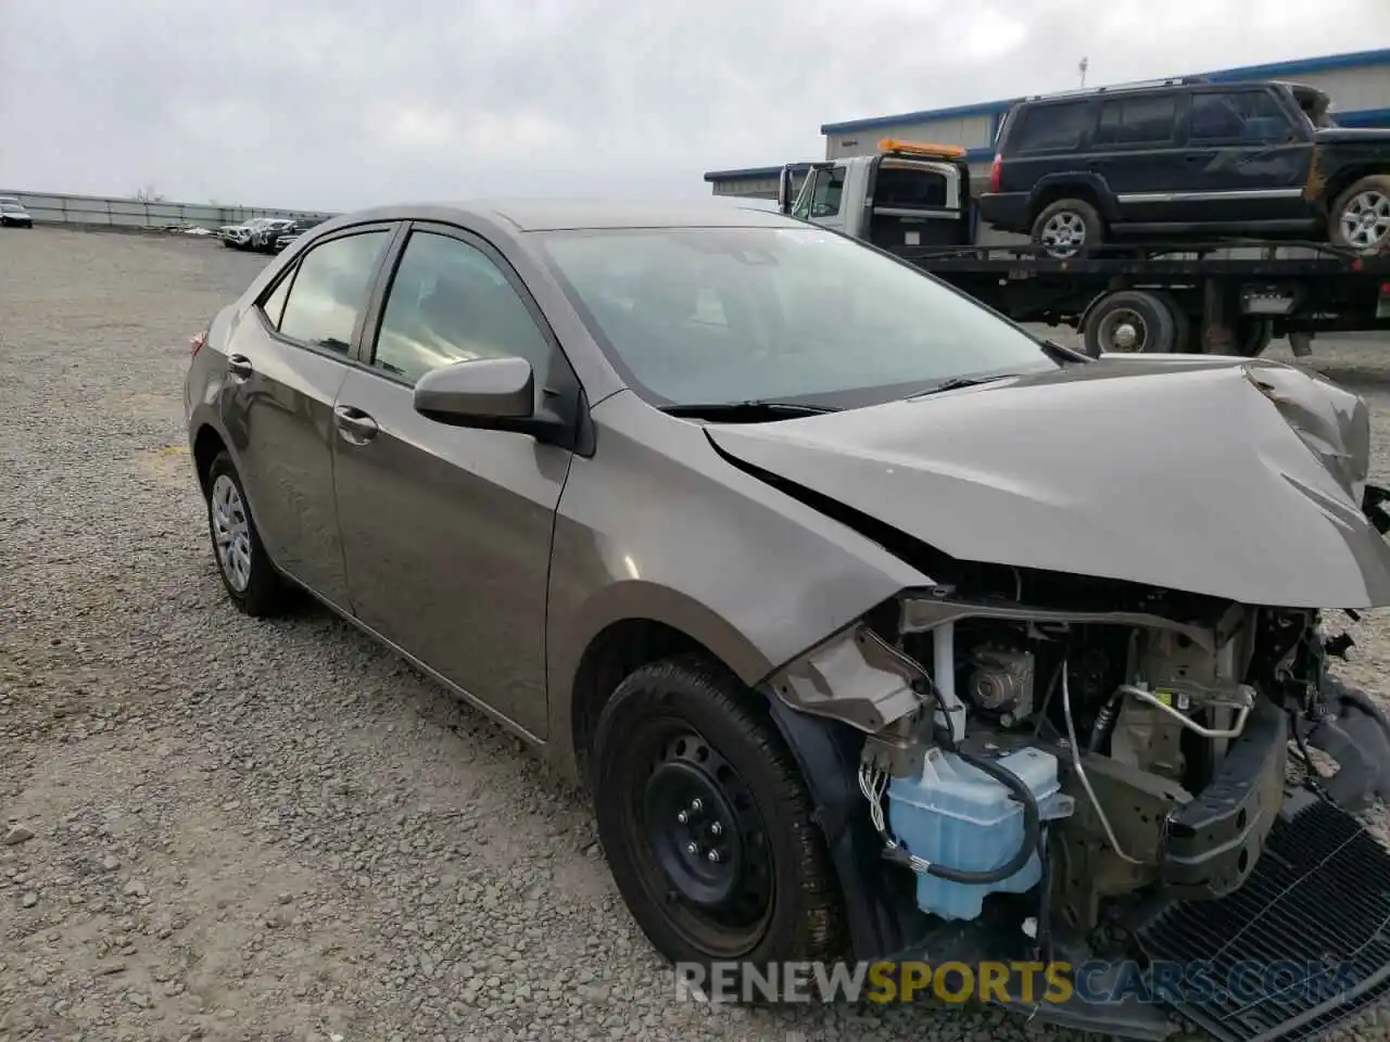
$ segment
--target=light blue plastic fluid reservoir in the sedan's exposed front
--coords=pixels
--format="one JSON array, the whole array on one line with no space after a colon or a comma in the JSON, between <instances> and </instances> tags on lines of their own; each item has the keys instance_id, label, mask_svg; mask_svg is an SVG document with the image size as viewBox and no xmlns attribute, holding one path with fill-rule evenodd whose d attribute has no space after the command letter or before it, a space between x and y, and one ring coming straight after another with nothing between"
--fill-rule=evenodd
<instances>
[{"instance_id":1,"label":"light blue plastic fluid reservoir in the sedan's exposed front","mask_svg":"<svg viewBox=\"0 0 1390 1042\"><path fill-rule=\"evenodd\" d=\"M1033 791L1042 821L1070 816L1073 800L1059 792L1056 757L1020 749L999 757ZM1023 842L1023 804L1009 789L955 753L927 750L917 777L888 786L888 825L908 853L965 871L998 868ZM917 906L948 920L976 918L994 892L1023 893L1042 878L1037 853L1008 879L962 884L917 875Z\"/></svg>"}]
</instances>

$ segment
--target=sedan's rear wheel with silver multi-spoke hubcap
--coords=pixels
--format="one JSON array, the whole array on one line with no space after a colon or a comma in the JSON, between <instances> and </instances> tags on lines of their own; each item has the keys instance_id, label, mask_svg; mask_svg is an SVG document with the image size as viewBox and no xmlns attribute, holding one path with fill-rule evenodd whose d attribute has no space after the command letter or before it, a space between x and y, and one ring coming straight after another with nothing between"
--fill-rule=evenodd
<instances>
[{"instance_id":1,"label":"sedan's rear wheel with silver multi-spoke hubcap","mask_svg":"<svg viewBox=\"0 0 1390 1042\"><path fill-rule=\"evenodd\" d=\"M291 590L261 543L232 457L218 453L207 471L207 532L222 586L245 614L282 614Z\"/></svg>"}]
</instances>

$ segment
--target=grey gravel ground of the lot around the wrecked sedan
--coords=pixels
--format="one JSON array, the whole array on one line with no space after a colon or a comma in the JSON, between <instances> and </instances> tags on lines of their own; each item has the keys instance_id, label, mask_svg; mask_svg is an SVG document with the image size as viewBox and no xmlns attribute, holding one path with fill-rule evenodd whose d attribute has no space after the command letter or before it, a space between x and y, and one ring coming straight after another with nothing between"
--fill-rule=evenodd
<instances>
[{"instance_id":1,"label":"grey gravel ground of the lot around the wrecked sedan","mask_svg":"<svg viewBox=\"0 0 1390 1042\"><path fill-rule=\"evenodd\" d=\"M263 263L0 235L0 1039L1077 1038L677 1002L587 806L514 739L324 611L239 615L181 392ZM1380 479L1387 346L1315 358L1373 403ZM1373 686L1390 613L1352 632ZM1375 1016L1340 1034L1390 1038Z\"/></svg>"}]
</instances>

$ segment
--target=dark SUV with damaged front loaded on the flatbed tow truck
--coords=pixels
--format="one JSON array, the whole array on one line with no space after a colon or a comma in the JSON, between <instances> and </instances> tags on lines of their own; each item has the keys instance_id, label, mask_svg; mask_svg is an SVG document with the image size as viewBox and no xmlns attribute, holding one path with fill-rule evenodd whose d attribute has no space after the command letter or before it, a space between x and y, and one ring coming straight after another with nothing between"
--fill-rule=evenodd
<instances>
[{"instance_id":1,"label":"dark SUV with damaged front loaded on the flatbed tow truck","mask_svg":"<svg viewBox=\"0 0 1390 1042\"><path fill-rule=\"evenodd\" d=\"M1390 249L1390 129L1309 86L1186 78L1017 103L980 217L1054 257L1112 239L1316 239Z\"/></svg>"}]
</instances>

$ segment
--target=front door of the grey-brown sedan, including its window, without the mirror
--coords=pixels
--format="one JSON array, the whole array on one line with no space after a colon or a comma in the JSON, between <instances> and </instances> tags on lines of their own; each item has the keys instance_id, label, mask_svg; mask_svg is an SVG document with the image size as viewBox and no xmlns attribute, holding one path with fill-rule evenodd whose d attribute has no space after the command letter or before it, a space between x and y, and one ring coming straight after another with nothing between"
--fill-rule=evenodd
<instances>
[{"instance_id":1,"label":"front door of the grey-brown sedan, including its window, without the mirror","mask_svg":"<svg viewBox=\"0 0 1390 1042\"><path fill-rule=\"evenodd\" d=\"M480 357L531 363L557 346L488 245L417 225L382 306L370 368L335 403L334 471L353 611L537 738L546 734L550 536L570 453L534 438L427 420L414 382Z\"/></svg>"}]
</instances>

